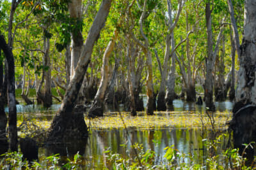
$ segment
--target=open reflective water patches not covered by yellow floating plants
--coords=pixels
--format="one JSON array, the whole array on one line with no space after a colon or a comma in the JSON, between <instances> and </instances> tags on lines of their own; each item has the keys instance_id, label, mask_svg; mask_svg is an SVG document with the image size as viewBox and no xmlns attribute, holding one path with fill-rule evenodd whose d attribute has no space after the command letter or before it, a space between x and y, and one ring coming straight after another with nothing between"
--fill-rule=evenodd
<instances>
[{"instance_id":1,"label":"open reflective water patches not covered by yellow floating plants","mask_svg":"<svg viewBox=\"0 0 256 170\"><path fill-rule=\"evenodd\" d=\"M233 104L230 101L219 102L216 104L216 111L231 112ZM51 120L56 110L60 108L60 104L53 104L51 108L45 109L40 105L17 105L18 118L23 113L38 113L33 115L38 120ZM181 100L173 102L174 111L177 114L189 114L187 111L194 111L200 113L205 111L205 106L198 106L195 103L187 103ZM121 108L122 110L122 108ZM8 108L6 108L8 111ZM166 112L167 113L167 112ZM158 114L158 113L156 113ZM31 114L29 114L31 115ZM163 116L167 116L168 114ZM118 115L117 115L118 116ZM218 129L218 127L217 127ZM222 129L223 130L223 129ZM198 163L205 162L207 152L204 149L202 139L209 138L210 131L204 132L198 128L175 128L175 127L157 127L150 129L141 129L138 127L129 127L127 132L124 128L111 128L111 129L92 129L92 133L87 141L87 145L82 147L83 161L86 169L102 169L102 167L111 167L106 161L106 150L111 150L113 153L120 153L124 157L134 157L131 145L139 143L143 146L143 150L148 149L156 152L155 164L163 164L164 153L166 146L173 146L179 152L190 153L193 159ZM227 145L227 141L222 142L223 147ZM125 145L125 146L124 146ZM220 151L221 152L221 151ZM52 155L52 150L40 148L40 155ZM66 152L68 157L73 157L71 153ZM186 160L185 160L186 161ZM65 161L62 162L65 164Z\"/></svg>"}]
</instances>

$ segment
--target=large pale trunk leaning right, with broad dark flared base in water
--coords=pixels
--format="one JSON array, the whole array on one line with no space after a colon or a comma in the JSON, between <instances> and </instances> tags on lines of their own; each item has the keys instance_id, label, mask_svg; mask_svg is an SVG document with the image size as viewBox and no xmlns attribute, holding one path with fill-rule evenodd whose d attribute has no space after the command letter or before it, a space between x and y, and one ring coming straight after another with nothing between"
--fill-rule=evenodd
<instances>
[{"instance_id":1,"label":"large pale trunk leaning right, with broad dark flared base in water","mask_svg":"<svg viewBox=\"0 0 256 170\"><path fill-rule=\"evenodd\" d=\"M88 32L88 37L83 46L83 52L79 58L74 76L72 76L68 85L60 110L52 120L47 136L47 141L49 142L65 142L70 138L83 139L85 136L88 136L83 113L77 115L78 113L74 114L72 113L72 110L76 104L76 97L79 93L83 83L84 74L86 73L88 64L91 60L93 46L97 38L99 38L100 30L104 27L110 7L111 0L102 1L92 27Z\"/></svg>"}]
</instances>

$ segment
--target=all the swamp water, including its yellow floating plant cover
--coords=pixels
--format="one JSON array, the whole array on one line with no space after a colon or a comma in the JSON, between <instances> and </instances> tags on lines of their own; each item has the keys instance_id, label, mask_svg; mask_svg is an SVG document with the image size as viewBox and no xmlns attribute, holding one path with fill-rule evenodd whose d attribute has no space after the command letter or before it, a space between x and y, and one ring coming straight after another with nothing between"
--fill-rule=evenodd
<instances>
[{"instance_id":1,"label":"all the swamp water, including its yellow floating plant cover","mask_svg":"<svg viewBox=\"0 0 256 170\"><path fill-rule=\"evenodd\" d=\"M138 143L141 150L154 151L153 163L164 164L167 146L179 150L180 153L188 153L198 164L204 164L205 158L210 153L205 148L204 139L212 138L212 122L214 122L214 134L221 134L227 130L225 122L232 117L233 104L229 101L215 103L216 112L205 113L205 106L198 106L195 103L186 103L181 100L173 102L174 111L155 112L154 116L147 116L144 112L138 112L137 117L131 117L129 113L122 112L122 118L115 111L107 111L105 117L89 120L85 118L86 125L90 127L90 134L87 145L81 146L83 169L102 169L110 167L108 156L109 151L119 153L124 158L135 158L132 145ZM53 104L45 110L40 105L22 106L17 105L18 126L25 120L30 125L39 129L48 129L52 117L60 104ZM8 109L6 108L6 111ZM26 131L20 132L20 136ZM228 139L221 139L218 152L225 150ZM39 157L52 155L52 150L41 147ZM66 164L66 159L72 159L74 155L68 151L65 157L61 157L60 164ZM188 159L183 160L185 163ZM40 159L39 159L40 162Z\"/></svg>"}]
</instances>

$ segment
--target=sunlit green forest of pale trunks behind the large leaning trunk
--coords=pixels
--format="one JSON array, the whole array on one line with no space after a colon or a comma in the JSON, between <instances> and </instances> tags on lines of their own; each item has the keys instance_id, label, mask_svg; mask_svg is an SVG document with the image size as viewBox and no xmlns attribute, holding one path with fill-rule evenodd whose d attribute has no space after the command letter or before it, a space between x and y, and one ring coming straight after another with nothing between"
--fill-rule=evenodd
<instances>
[{"instance_id":1,"label":"sunlit green forest of pale trunks behind the large leaning trunk","mask_svg":"<svg viewBox=\"0 0 256 170\"><path fill-rule=\"evenodd\" d=\"M65 1L17 1L10 16L12 3L1 2L1 34L6 41L11 35L8 41L15 59L15 87L22 89L24 99L28 89L35 88L38 103L50 106L51 99L46 98L51 96L51 87L57 89L60 100L63 98L61 92L66 90L79 59L73 55L79 56L100 6L100 1L79 3L78 12L70 10L72 6ZM234 1L233 6L242 35L244 3ZM105 59L109 41L114 41L113 49ZM205 92L208 81L214 100L232 100L238 69L234 49L227 1L150 0L145 5L143 1L114 1L85 74L84 90L90 93L84 91L83 96L92 100L104 78L108 85L102 93L109 94L105 96L110 103L113 92L120 93L117 98L133 93L137 106L138 95L151 89L158 92L157 109L166 110L164 101L168 106L176 97L196 101L196 94ZM3 60L1 55L2 64ZM209 77L212 80L207 80ZM207 105L211 106L213 100L207 92ZM149 99L154 98L150 93Z\"/></svg>"}]
</instances>

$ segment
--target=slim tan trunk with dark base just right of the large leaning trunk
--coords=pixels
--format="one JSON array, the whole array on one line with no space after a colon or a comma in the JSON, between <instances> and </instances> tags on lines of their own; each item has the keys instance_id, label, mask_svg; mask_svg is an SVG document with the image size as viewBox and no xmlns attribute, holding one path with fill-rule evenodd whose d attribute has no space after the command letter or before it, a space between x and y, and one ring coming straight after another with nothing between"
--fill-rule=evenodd
<instances>
[{"instance_id":1,"label":"slim tan trunk with dark base just right of the large leaning trunk","mask_svg":"<svg viewBox=\"0 0 256 170\"><path fill-rule=\"evenodd\" d=\"M100 86L97 91L95 98L93 99L93 104L90 110L88 111L88 117L102 117L103 116L103 109L104 109L104 99L105 94L108 86L108 73L109 73L109 58L111 57L111 53L113 52L113 48L115 46L115 41L118 37L118 31L114 32L113 39L109 41L106 51L104 52L103 56L103 63L102 63L102 78L100 80Z\"/></svg>"}]
</instances>

